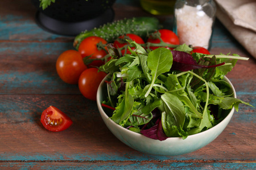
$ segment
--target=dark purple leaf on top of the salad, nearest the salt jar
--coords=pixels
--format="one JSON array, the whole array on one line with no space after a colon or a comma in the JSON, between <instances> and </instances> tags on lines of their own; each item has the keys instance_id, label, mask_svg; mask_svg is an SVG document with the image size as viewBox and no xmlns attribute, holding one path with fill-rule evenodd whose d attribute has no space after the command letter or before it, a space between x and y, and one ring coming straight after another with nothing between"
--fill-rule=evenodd
<instances>
[{"instance_id":1,"label":"dark purple leaf on top of the salad, nearest the salt jar","mask_svg":"<svg viewBox=\"0 0 256 170\"><path fill-rule=\"evenodd\" d=\"M189 71L193 69L203 69L203 68L211 68L211 67L217 67L224 65L225 62L217 64L217 65L211 65L211 66L204 66L197 64L196 60L191 56L191 54L188 54L186 52L180 52L171 50L173 62L172 62L172 70L179 70L179 71Z\"/></svg>"}]
</instances>

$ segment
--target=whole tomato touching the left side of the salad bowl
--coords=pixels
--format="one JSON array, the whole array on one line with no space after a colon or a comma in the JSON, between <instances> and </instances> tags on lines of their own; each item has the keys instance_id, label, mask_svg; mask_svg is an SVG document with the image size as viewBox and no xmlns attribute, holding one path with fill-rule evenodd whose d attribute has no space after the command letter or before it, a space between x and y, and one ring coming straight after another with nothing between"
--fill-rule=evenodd
<instances>
[{"instance_id":1,"label":"whole tomato touching the left side of the salad bowl","mask_svg":"<svg viewBox=\"0 0 256 170\"><path fill-rule=\"evenodd\" d=\"M106 73L102 71L98 72L97 68L89 68L84 70L79 78L79 90L81 94L87 99L96 100L98 86L105 76Z\"/></svg>"}]
</instances>

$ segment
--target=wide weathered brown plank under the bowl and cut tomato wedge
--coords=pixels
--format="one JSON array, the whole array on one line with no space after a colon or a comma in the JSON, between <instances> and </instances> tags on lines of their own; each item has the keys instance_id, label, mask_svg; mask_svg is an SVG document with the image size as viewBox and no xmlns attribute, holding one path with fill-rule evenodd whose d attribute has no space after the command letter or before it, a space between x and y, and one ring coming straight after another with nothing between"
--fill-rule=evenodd
<instances>
[{"instance_id":1,"label":"wide weathered brown plank under the bowl and cut tomato wedge","mask_svg":"<svg viewBox=\"0 0 256 170\"><path fill-rule=\"evenodd\" d=\"M254 96L241 96L255 104ZM106 128L96 103L81 95L0 95L0 162L6 161L144 161L255 160L254 109L241 107L222 134L191 154L155 156L135 151ZM74 124L52 133L40 114L49 105L67 113Z\"/></svg>"}]
</instances>

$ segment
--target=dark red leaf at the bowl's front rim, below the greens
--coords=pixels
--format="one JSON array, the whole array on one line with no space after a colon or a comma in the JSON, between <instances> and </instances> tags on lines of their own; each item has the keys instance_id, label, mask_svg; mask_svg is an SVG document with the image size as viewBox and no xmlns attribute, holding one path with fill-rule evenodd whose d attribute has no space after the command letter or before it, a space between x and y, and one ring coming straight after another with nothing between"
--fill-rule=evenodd
<instances>
[{"instance_id":1,"label":"dark red leaf at the bowl's front rim, below the greens","mask_svg":"<svg viewBox=\"0 0 256 170\"><path fill-rule=\"evenodd\" d=\"M168 138L166 134L164 134L160 118L150 129L141 130L141 134L151 139L158 139L159 141L164 141Z\"/></svg>"}]
</instances>

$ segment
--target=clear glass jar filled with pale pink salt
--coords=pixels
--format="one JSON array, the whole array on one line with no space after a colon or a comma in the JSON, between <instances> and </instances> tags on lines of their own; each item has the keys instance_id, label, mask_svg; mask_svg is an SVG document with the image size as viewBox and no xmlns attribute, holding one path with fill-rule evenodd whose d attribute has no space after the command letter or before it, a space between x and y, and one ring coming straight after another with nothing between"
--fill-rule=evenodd
<instances>
[{"instance_id":1,"label":"clear glass jar filled with pale pink salt","mask_svg":"<svg viewBox=\"0 0 256 170\"><path fill-rule=\"evenodd\" d=\"M210 49L216 5L213 0L177 0L174 32L180 44Z\"/></svg>"}]
</instances>

